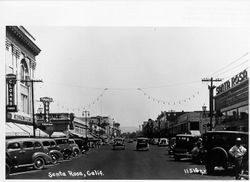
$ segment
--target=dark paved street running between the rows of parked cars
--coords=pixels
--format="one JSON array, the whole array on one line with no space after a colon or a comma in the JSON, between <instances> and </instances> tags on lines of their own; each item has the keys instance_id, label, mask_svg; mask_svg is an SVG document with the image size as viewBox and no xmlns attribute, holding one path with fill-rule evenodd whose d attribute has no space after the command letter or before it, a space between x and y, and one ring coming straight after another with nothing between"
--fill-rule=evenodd
<instances>
[{"instance_id":1,"label":"dark paved street running between the rows of parked cars","mask_svg":"<svg viewBox=\"0 0 250 182\"><path fill-rule=\"evenodd\" d=\"M165 147L150 146L150 151L135 151L135 143L126 150L112 150L109 145L93 149L87 155L48 166L42 171L14 173L11 179L220 179L233 176L218 171L214 176L185 173L187 169L204 170L189 160L174 161Z\"/></svg>"}]
</instances>

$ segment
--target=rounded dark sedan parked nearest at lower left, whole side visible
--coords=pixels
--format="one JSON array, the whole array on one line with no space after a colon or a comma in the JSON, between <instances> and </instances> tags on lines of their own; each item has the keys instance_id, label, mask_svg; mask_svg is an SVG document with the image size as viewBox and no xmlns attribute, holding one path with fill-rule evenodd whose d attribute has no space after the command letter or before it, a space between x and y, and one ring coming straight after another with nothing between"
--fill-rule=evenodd
<instances>
[{"instance_id":1,"label":"rounded dark sedan parked nearest at lower left, whole side visible","mask_svg":"<svg viewBox=\"0 0 250 182\"><path fill-rule=\"evenodd\" d=\"M51 163L49 150L39 139L6 139L6 175L13 168L33 166L35 169L43 169Z\"/></svg>"}]
</instances>

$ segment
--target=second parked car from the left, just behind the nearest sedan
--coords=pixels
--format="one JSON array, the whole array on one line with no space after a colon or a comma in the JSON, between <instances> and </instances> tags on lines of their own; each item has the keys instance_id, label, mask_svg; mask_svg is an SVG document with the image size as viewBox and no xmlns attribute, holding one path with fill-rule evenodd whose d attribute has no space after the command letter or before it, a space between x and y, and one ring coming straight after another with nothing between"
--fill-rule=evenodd
<instances>
[{"instance_id":1,"label":"second parked car from the left, just behind the nearest sedan","mask_svg":"<svg viewBox=\"0 0 250 182\"><path fill-rule=\"evenodd\" d=\"M63 154L60 152L60 149L54 139L42 138L40 140L43 146L48 148L53 163L57 163L59 160L63 159Z\"/></svg>"}]
</instances>

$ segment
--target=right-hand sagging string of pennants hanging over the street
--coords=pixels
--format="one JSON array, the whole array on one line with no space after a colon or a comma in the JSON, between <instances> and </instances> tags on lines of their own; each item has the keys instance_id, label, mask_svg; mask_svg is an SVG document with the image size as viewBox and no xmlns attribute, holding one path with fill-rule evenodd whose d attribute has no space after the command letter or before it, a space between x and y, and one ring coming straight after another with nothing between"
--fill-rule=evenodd
<instances>
[{"instance_id":1,"label":"right-hand sagging string of pennants hanging over the street","mask_svg":"<svg viewBox=\"0 0 250 182\"><path fill-rule=\"evenodd\" d=\"M195 97L197 97L199 95L199 91L195 92L192 96L186 98L186 99L182 99L182 100L177 100L177 101L166 101L166 100L161 100L161 99L157 99L151 95L149 95L147 92L145 92L143 89L141 88L137 88L137 90L141 91L143 93L143 95L148 99L148 100L151 100L155 103L158 103L158 104L164 104L164 105L182 105L182 104L185 104L189 101L191 101L192 99L194 99Z\"/></svg>"}]
</instances>

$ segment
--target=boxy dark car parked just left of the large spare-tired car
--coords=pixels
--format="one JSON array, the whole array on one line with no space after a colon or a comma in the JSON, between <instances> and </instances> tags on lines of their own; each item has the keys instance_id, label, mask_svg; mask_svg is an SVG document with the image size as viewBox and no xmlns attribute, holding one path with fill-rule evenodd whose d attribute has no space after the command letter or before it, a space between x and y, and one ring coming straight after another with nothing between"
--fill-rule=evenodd
<instances>
[{"instance_id":1,"label":"boxy dark car parked just left of the large spare-tired car","mask_svg":"<svg viewBox=\"0 0 250 182\"><path fill-rule=\"evenodd\" d=\"M199 136L191 134L178 134L176 135L176 144L174 147L174 159L180 160L181 158L192 158L191 151Z\"/></svg>"}]
</instances>

